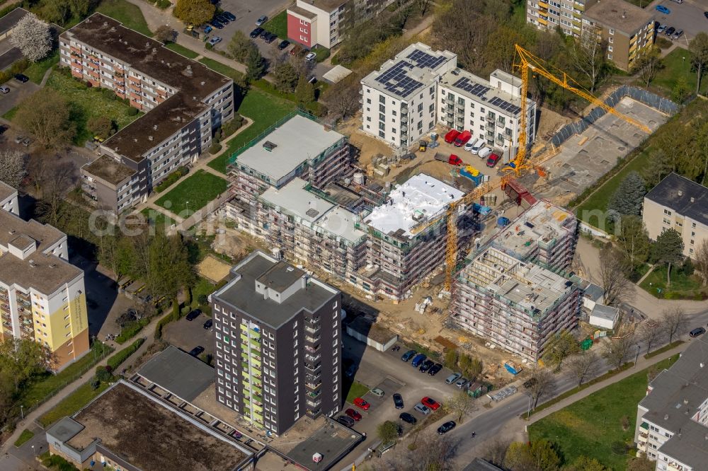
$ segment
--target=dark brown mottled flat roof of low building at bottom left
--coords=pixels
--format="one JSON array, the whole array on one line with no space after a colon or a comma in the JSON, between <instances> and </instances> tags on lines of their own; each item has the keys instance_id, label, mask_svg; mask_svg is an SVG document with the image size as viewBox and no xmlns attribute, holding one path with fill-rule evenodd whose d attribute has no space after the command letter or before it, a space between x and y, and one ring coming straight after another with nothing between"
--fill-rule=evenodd
<instances>
[{"instance_id":1,"label":"dark brown mottled flat roof of low building at bottom left","mask_svg":"<svg viewBox=\"0 0 708 471\"><path fill-rule=\"evenodd\" d=\"M144 471L234 470L246 453L147 392L120 380L72 419L84 426L67 445L101 446Z\"/></svg>"}]
</instances>

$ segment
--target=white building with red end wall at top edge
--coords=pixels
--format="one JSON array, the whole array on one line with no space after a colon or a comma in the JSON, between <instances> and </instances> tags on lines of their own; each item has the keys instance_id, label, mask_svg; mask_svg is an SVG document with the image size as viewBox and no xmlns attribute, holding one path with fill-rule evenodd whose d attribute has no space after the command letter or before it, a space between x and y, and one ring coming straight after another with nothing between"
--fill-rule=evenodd
<instances>
[{"instance_id":1,"label":"white building with red end wall at top edge","mask_svg":"<svg viewBox=\"0 0 708 471\"><path fill-rule=\"evenodd\" d=\"M394 0L296 0L287 8L287 39L331 48L353 25L381 13Z\"/></svg>"}]
</instances>

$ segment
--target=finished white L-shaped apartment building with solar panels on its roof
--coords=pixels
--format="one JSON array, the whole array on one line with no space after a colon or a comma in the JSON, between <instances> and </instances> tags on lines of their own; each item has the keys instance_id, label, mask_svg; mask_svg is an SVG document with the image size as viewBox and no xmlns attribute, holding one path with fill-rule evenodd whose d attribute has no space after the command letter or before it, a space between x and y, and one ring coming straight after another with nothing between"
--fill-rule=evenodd
<instances>
[{"instance_id":1,"label":"finished white L-shaped apartment building with solar panels on its roof","mask_svg":"<svg viewBox=\"0 0 708 471\"><path fill-rule=\"evenodd\" d=\"M457 55L420 42L362 79L362 129L407 148L435 124L468 129L504 160L518 149L521 81L501 70L489 80L457 68ZM535 102L527 100L527 142L535 139Z\"/></svg>"}]
</instances>

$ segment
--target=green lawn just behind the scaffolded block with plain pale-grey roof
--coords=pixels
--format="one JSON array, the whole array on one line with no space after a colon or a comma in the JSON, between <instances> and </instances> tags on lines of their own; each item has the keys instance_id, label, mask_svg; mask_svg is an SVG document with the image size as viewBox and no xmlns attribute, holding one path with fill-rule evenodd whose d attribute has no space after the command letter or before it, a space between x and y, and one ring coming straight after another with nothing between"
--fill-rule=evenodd
<instances>
[{"instance_id":1,"label":"green lawn just behind the scaffolded block with plain pale-grey roof","mask_svg":"<svg viewBox=\"0 0 708 471\"><path fill-rule=\"evenodd\" d=\"M251 88L246 93L237 111L240 115L251 118L253 124L230 140L227 143L229 146L227 151L212 160L208 165L225 174L229 158L236 150L249 144L254 138L258 137L278 120L282 120L293 110L295 110L295 103L275 98L273 95Z\"/></svg>"}]
</instances>

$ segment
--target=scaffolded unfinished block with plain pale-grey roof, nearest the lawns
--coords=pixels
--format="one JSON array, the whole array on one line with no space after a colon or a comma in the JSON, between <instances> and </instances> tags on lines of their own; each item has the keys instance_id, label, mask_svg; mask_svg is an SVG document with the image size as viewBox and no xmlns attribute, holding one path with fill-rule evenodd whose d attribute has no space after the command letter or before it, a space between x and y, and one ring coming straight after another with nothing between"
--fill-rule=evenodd
<instances>
[{"instance_id":1,"label":"scaffolded unfinished block with plain pale-grey roof, nearest the lawns","mask_svg":"<svg viewBox=\"0 0 708 471\"><path fill-rule=\"evenodd\" d=\"M295 178L323 188L354 173L346 136L310 115L296 113L251 144L229 170L235 198L226 212L254 236L263 229L255 224L256 199L268 188L279 190Z\"/></svg>"}]
</instances>

